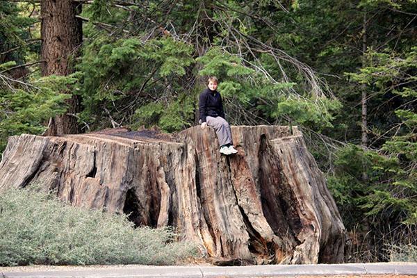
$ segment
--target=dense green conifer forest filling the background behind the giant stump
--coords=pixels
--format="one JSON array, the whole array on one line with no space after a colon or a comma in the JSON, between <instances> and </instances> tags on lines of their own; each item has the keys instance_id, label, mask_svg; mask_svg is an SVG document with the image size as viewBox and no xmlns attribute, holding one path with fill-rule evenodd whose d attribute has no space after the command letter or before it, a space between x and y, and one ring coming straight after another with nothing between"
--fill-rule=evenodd
<instances>
[{"instance_id":1,"label":"dense green conifer forest filling the background behind the giant stump","mask_svg":"<svg viewBox=\"0 0 417 278\"><path fill-rule=\"evenodd\" d=\"M300 126L347 261L416 252L416 19L413 0L0 0L0 152L21 133L186 129L215 75L231 124Z\"/></svg>"}]
</instances>

